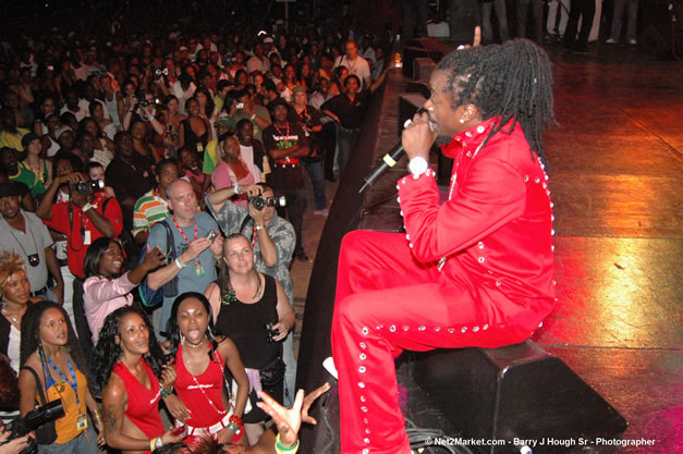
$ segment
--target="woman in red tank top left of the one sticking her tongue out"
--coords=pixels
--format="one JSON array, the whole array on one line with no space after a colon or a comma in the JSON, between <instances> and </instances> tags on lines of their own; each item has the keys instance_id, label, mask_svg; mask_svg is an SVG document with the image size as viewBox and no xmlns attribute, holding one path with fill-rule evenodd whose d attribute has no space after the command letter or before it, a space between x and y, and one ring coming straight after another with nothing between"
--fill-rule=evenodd
<instances>
[{"instance_id":1,"label":"woman in red tank top left of the one sticking her tongue out","mask_svg":"<svg viewBox=\"0 0 683 454\"><path fill-rule=\"evenodd\" d=\"M175 371L161 366L163 353L147 327L137 309L121 307L105 319L95 348L105 438L110 447L127 454L150 453L183 438L172 428L163 430L159 401L173 389Z\"/></svg>"}]
</instances>

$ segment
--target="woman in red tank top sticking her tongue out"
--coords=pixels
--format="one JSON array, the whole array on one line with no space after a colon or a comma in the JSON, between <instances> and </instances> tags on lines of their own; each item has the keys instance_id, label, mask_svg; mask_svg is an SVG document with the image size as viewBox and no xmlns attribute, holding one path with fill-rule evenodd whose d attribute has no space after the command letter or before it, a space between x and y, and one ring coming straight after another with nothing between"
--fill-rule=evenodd
<instances>
[{"instance_id":1,"label":"woman in red tank top sticking her tongue out","mask_svg":"<svg viewBox=\"0 0 683 454\"><path fill-rule=\"evenodd\" d=\"M170 353L178 378L175 392L185 413L174 415L190 438L216 435L221 443L246 444L242 415L249 381L235 344L214 336L214 315L208 299L196 292L183 293L171 308ZM224 378L225 366L237 383L234 401ZM225 386L223 386L225 384Z\"/></svg>"}]
</instances>

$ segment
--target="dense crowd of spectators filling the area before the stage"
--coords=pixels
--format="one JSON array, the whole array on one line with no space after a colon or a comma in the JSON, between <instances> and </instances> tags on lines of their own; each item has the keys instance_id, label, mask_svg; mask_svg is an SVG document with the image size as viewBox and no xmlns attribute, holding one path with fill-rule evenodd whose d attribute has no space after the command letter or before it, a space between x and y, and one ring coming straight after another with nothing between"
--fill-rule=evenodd
<instances>
[{"instance_id":1,"label":"dense crowd of spectators filling the area before the stage","mask_svg":"<svg viewBox=\"0 0 683 454\"><path fill-rule=\"evenodd\" d=\"M0 46L4 416L61 400L40 453L295 452L327 390L294 393L305 179L327 216L388 66L370 35L289 26Z\"/></svg>"}]
</instances>

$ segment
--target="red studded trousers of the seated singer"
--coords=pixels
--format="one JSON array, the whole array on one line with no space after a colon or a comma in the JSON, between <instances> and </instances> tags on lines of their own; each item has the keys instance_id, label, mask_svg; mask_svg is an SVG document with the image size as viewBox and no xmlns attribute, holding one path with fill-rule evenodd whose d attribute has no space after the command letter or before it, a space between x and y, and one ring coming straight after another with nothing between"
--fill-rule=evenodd
<instances>
[{"instance_id":1,"label":"red studded trousers of the seated singer","mask_svg":"<svg viewBox=\"0 0 683 454\"><path fill-rule=\"evenodd\" d=\"M393 363L403 349L498 347L528 338L463 274L415 261L401 234L344 237L332 321L342 454L410 454Z\"/></svg>"}]
</instances>

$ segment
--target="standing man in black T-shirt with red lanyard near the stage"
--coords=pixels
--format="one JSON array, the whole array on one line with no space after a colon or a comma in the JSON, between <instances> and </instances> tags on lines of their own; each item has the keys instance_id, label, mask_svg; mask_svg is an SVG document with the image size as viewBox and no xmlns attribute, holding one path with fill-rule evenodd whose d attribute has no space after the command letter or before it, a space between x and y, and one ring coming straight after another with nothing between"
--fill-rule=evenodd
<instances>
[{"instance_id":1,"label":"standing man in black T-shirt with red lanyard near the stage","mask_svg":"<svg viewBox=\"0 0 683 454\"><path fill-rule=\"evenodd\" d=\"M308 140L298 123L288 120L289 106L283 99L276 99L268 107L275 122L261 134L271 169L267 182L278 195L286 197L286 217L296 233L294 256L307 261L302 243L306 195L301 159L309 154Z\"/></svg>"}]
</instances>

